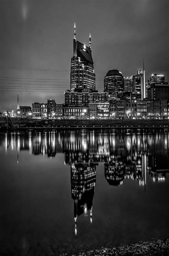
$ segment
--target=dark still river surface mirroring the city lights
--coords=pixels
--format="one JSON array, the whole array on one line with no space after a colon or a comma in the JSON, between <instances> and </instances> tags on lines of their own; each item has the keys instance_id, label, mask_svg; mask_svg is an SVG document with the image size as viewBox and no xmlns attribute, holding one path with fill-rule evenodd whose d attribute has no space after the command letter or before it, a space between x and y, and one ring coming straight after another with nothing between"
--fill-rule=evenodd
<instances>
[{"instance_id":1,"label":"dark still river surface mirroring the city lights","mask_svg":"<svg viewBox=\"0 0 169 256\"><path fill-rule=\"evenodd\" d=\"M0 255L168 237L169 133L0 133Z\"/></svg>"}]
</instances>

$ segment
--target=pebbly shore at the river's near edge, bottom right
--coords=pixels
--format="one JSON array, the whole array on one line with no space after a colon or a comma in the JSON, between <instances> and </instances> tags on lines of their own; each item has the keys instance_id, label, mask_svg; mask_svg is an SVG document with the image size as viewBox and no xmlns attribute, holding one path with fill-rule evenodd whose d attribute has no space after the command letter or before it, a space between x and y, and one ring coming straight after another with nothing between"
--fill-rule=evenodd
<instances>
[{"instance_id":1,"label":"pebbly shore at the river's near edge, bottom right","mask_svg":"<svg viewBox=\"0 0 169 256\"><path fill-rule=\"evenodd\" d=\"M87 252L80 252L73 255L169 255L169 239L159 239L148 242L138 242L129 245L122 245L119 247L101 247L97 250Z\"/></svg>"}]
</instances>

